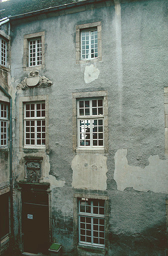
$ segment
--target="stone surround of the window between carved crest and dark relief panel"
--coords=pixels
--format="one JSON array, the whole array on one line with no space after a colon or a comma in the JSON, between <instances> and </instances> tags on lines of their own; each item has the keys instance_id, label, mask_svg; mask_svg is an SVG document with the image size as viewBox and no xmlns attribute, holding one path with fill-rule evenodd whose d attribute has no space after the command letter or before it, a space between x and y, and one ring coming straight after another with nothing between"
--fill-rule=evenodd
<instances>
[{"instance_id":1,"label":"stone surround of the window between carved crest and dark relief panel","mask_svg":"<svg viewBox=\"0 0 168 256\"><path fill-rule=\"evenodd\" d=\"M45 146L24 146L24 103L25 102L37 102L45 101L45 127L46 127L46 138ZM49 125L49 114L48 114L48 94L46 95L34 95L34 96L23 96L19 98L19 150L23 149L39 149L48 150L49 137L48 137L48 125Z\"/></svg>"}]
</instances>

